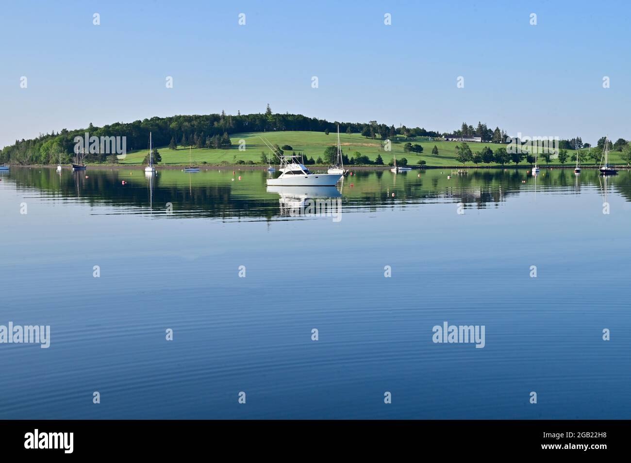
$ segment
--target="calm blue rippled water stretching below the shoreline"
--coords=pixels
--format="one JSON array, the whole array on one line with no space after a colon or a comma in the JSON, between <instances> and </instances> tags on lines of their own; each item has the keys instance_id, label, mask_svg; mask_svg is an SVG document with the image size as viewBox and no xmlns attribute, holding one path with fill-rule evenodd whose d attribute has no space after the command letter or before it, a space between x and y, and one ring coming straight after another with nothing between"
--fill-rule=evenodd
<instances>
[{"instance_id":1,"label":"calm blue rippled water stretching below the shoreline","mask_svg":"<svg viewBox=\"0 0 631 463\"><path fill-rule=\"evenodd\" d=\"M449 173L12 167L0 418L628 419L630 173Z\"/></svg>"}]
</instances>

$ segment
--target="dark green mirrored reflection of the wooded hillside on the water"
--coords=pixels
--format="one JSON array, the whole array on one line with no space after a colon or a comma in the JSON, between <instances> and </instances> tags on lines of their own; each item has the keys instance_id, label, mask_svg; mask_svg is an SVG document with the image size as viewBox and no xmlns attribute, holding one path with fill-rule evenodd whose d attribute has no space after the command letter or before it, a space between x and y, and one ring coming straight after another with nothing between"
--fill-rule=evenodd
<instances>
[{"instance_id":1,"label":"dark green mirrored reflection of the wooded hillside on the water","mask_svg":"<svg viewBox=\"0 0 631 463\"><path fill-rule=\"evenodd\" d=\"M603 179L598 170L542 168L480 169L468 175L449 175L449 170L412 170L394 175L389 171L356 171L337 187L290 191L266 187L266 170L205 170L189 173L162 169L144 177L142 170L90 168L57 173L53 168L12 167L3 173L4 186L33 190L46 201L64 200L90 204L93 214L136 214L147 210L153 216L173 206L177 217L203 216L221 220L275 220L287 216L287 208L309 198L340 199L345 211L366 211L393 205L411 206L435 202L463 202L468 208L497 208L511 197L577 192L607 192L631 198L630 172ZM293 187L290 187L293 188ZM538 198L539 200L539 198Z\"/></svg>"}]
</instances>

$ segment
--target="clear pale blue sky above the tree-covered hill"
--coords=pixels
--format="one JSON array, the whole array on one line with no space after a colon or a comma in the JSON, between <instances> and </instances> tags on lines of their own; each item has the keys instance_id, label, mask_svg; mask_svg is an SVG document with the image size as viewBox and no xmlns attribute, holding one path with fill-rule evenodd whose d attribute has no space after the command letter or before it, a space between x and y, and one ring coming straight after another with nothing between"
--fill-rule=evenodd
<instances>
[{"instance_id":1,"label":"clear pale blue sky above the tree-covered hill","mask_svg":"<svg viewBox=\"0 0 631 463\"><path fill-rule=\"evenodd\" d=\"M328 120L439 131L481 120L513 135L631 139L623 1L25 0L1 8L0 147L90 122L263 112L268 102L274 112Z\"/></svg>"}]
</instances>

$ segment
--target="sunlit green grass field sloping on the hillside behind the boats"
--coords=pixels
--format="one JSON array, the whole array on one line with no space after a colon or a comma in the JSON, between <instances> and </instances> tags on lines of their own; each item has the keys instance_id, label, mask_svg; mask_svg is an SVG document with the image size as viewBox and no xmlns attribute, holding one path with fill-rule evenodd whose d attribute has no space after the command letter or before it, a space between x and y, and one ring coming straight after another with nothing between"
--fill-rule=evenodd
<instances>
[{"instance_id":1,"label":"sunlit green grass field sloping on the hillside behind the boats","mask_svg":"<svg viewBox=\"0 0 631 463\"><path fill-rule=\"evenodd\" d=\"M331 132L329 135L324 134L324 132L249 132L242 134L234 134L230 139L232 140L232 148L230 149L207 149L207 148L192 148L191 156L192 163L194 164L202 164L204 162L208 164L220 164L220 163L230 163L233 164L235 161L243 160L243 161L253 161L254 163L259 163L261 161L261 151L265 151L266 153L270 153L270 150L264 145L264 143L259 139L259 135L264 136L269 140L270 143L276 143L279 146L283 146L288 144L292 146L293 151L302 151L309 158L314 158L317 160L318 156L322 156L324 153L324 149L327 146L335 146L336 145L336 134ZM456 146L457 142L454 141L415 141L412 139L404 139L402 137L397 137L393 139L392 150L391 151L383 151L380 149L380 139L370 139L361 136L360 134L340 134L340 141L342 143L342 149L344 153L349 156L349 158L355 153L355 151L359 151L362 155L367 155L371 160L375 160L377 155L381 155L384 160L384 163L389 163L392 160L392 155L395 155L398 159L406 158L408 160L408 165L416 165L418 160L424 160L428 166L455 166L459 165L456 161ZM239 150L239 140L243 139L245 141L245 150ZM410 141L410 143L418 143L423 146L423 153L421 155L416 155L416 153L405 153L403 151L403 146L406 142ZM439 154L434 156L432 155L433 146L437 146L439 150ZM476 151L480 151L484 146L490 146L490 148L495 151L495 149L500 148L500 146L506 147L505 144L493 144L493 143L469 143L469 148L474 153ZM160 156L162 156L161 165L186 165L189 163L189 149L181 148L174 150L169 149L168 146L158 147L158 151L160 152ZM127 157L124 160L121 160L122 164L140 164L142 163L144 156L146 156L146 151L132 151L127 153ZM573 151L569 150L570 158L572 157ZM572 161L567 161L566 165L571 164ZM592 160L587 161L588 164L593 164ZM622 164L622 157L620 153L617 151L613 151L610 153L610 163L620 163ZM525 165L525 161L520 165ZM558 159L553 159L550 165L558 165ZM473 163L467 163L467 165L473 165ZM484 165L484 164L482 164ZM494 163L490 165L495 165ZM514 164L511 164L514 165ZM540 160L540 165L545 165L543 160Z\"/></svg>"}]
</instances>

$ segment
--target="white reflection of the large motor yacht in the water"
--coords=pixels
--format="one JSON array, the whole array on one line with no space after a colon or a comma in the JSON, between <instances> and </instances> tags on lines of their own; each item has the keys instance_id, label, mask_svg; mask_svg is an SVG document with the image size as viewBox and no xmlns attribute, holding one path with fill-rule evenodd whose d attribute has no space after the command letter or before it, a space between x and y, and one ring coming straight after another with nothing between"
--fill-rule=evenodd
<instances>
[{"instance_id":1,"label":"white reflection of the large motor yacht in the water","mask_svg":"<svg viewBox=\"0 0 631 463\"><path fill-rule=\"evenodd\" d=\"M341 214L342 194L336 187L273 185L267 187L267 192L280 196L281 216L339 218Z\"/></svg>"}]
</instances>

